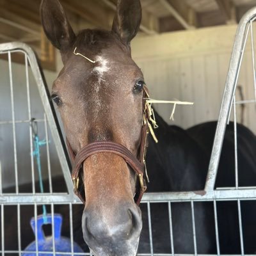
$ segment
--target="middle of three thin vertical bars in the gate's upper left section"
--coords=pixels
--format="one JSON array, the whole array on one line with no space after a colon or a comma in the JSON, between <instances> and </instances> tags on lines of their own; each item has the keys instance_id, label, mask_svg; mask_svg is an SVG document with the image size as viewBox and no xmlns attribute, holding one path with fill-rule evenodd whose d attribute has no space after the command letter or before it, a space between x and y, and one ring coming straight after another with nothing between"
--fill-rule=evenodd
<instances>
[{"instance_id":1,"label":"middle of three thin vertical bars in the gate's upper left section","mask_svg":"<svg viewBox=\"0 0 256 256\"><path fill-rule=\"evenodd\" d=\"M25 72L26 72L26 88L28 99L28 120L31 120L31 102L30 102L30 87L29 87L29 74L28 74L28 56L25 56ZM31 179L32 179L32 193L35 195L35 170L34 170L34 157L33 157L33 134L32 127L29 125L29 143L30 143L30 161L31 161Z\"/></svg>"}]
</instances>

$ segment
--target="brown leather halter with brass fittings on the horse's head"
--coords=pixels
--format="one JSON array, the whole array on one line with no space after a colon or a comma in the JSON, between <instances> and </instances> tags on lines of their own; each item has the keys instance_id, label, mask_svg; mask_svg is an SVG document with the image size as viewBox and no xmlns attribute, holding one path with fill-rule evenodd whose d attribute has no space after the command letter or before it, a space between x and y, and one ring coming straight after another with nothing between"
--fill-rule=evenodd
<instances>
[{"instance_id":1,"label":"brown leather halter with brass fittings on the horse's head","mask_svg":"<svg viewBox=\"0 0 256 256\"><path fill-rule=\"evenodd\" d=\"M147 189L147 184L143 177L145 172L145 154L147 148L147 135L148 135L148 109L145 104L145 98L148 97L148 89L144 86L143 89L143 124L141 128L141 139L140 139L140 150L138 156L134 156L130 150L125 148L123 145L112 141L97 141L86 145L81 148L77 154L70 146L67 140L68 151L73 161L72 168L72 180L74 184L74 193L79 197L79 199L85 204L85 196L83 193L83 183L79 182L81 180L81 171L83 170L84 161L97 153L109 152L111 154L116 154L122 157L127 164L132 168L132 170L138 175L139 184L136 185L136 194L134 195L134 201L137 205L140 204L143 193Z\"/></svg>"}]
</instances>

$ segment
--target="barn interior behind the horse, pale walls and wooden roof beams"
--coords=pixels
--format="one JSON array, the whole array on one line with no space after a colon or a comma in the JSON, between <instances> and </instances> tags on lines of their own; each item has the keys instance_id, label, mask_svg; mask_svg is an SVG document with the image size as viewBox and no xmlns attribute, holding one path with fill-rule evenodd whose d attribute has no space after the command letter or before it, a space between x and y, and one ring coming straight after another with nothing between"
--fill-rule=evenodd
<instances>
[{"instance_id":1,"label":"barn interior behind the horse, pale walls and wooden roof beams","mask_svg":"<svg viewBox=\"0 0 256 256\"><path fill-rule=\"evenodd\" d=\"M111 29L115 0L60 0L74 31L84 28ZM143 20L139 35L132 41L132 56L143 70L145 81L154 99L179 99L195 102L194 106L179 106L175 120L170 121L172 108L156 105L157 111L169 124L187 128L201 122L216 120L220 111L223 88L227 77L230 54L234 44L237 22L256 6L256 0L141 0ZM51 90L52 81L62 68L58 51L52 47L40 25L40 0L0 0L0 43L24 42L36 50L45 78ZM108 20L108 22L106 22ZM239 76L237 99L253 99L252 45L246 47ZM1 55L0 55L1 56ZM17 124L17 166L13 162L10 76L6 56L0 60L0 189L15 185L18 171L19 185L31 180L31 156L28 141L29 124ZM5 59L4 59L5 58ZM24 58L12 54L14 109L17 120L23 120L26 102ZM6 64L7 63L7 64ZM31 83L31 116L44 120L41 99L35 79L29 71ZM255 105L237 108L237 121L254 133ZM39 124L40 138L45 138L44 124ZM49 140L52 141L51 133ZM8 150L6 150L8 148ZM51 163L47 163L47 154ZM60 175L61 166L54 143L42 148L43 177ZM14 157L15 158L15 157ZM48 166L47 166L48 165ZM36 180L38 177L36 175ZM13 192L13 191L12 191Z\"/></svg>"}]
</instances>

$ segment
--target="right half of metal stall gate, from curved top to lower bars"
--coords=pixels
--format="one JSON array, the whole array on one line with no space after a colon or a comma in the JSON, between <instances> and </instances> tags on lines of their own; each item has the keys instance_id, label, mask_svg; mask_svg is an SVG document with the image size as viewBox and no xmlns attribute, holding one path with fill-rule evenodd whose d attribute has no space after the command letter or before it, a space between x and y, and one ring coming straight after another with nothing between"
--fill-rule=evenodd
<instances>
[{"instance_id":1,"label":"right half of metal stall gate, from curved top to lower bars","mask_svg":"<svg viewBox=\"0 0 256 256\"><path fill-rule=\"evenodd\" d=\"M256 69L255 69L255 42L254 42L254 31L255 25L253 22L256 19L256 8L252 8L249 10L239 22L239 26L237 28L236 38L234 42L234 47L232 50L232 56L230 60L230 66L228 69L227 74L227 81L225 84L225 90L223 93L223 100L220 109L220 115L218 118L218 124L216 127L216 133L214 137L214 142L212 146L211 152L211 160L209 162L209 169L207 173L207 179L205 182L205 188L203 191L189 191L189 192L172 192L172 193L148 193L143 196L143 202L147 204L148 209L148 226L150 227L150 253L147 255L180 255L180 253L175 252L175 246L173 246L173 241L175 239L175 234L173 234L173 218L172 218L172 208L173 205L177 204L178 202L186 202L189 207L191 208L191 228L192 228L192 235L193 235L193 243L194 243L194 253L192 255L202 255L205 253L198 251L198 242L202 237L198 234L197 225L200 224L200 220L196 222L196 214L195 214L195 205L198 203L207 204L209 203L209 207L212 208L212 216L206 216L207 218L212 218L212 224L214 225L214 240L216 241L216 250L214 250L214 255L224 255L227 253L221 252L221 244L223 246L223 241L221 239L227 239L227 244L230 248L230 251L234 251L232 254L236 255L255 255L256 250L255 246L252 244L248 245L247 239L252 239L251 243L256 243L256 236L255 236L255 216L256 216L256 179L254 178L253 186L239 186L239 175L244 170L239 170L239 162L237 157L237 150L239 149L238 138L237 138L237 106L241 104L252 104L251 108L255 108L256 103ZM236 89L237 89L237 81L239 81L239 74L241 70L241 66L243 64L244 54L245 52L250 55L251 63L252 63L252 86L253 90L252 99L244 99L244 100L236 100ZM248 106L248 105L246 105ZM253 109L255 111L255 109ZM233 112L233 114L232 114ZM225 130L227 124L230 124L230 120L234 123L234 186L226 187L226 188L216 188L216 176L218 171L218 166L221 157L221 150L223 147L223 138L225 136ZM230 124L231 125L231 124ZM248 155L255 154L255 152L250 152L250 148L248 148ZM256 169L256 166L255 166ZM240 171L240 172L239 172ZM253 183L253 182L252 182ZM155 253L154 250L154 237L152 237L152 223L150 222L150 208L154 203L165 203L167 204L167 211L168 211L168 220L169 222L166 223L170 225L170 253ZM225 234L220 233L220 214L219 208L223 207L221 204L227 204L225 209L232 208L232 211L236 210L236 216L226 216L225 221L231 221L237 225L237 230L234 228L234 236L237 236L238 239L236 243L230 243L230 237L225 237ZM245 211L247 208L247 211ZM243 216L244 212L246 212L246 216ZM250 212L251 211L251 212ZM224 213L223 211L221 211ZM248 212L251 214L249 215ZM228 212L230 214L230 212ZM230 220L231 218L235 218L236 220ZM244 233L244 229L248 228L245 227L246 218L253 218L252 221L246 221L246 225L250 226L252 229L252 234L248 235ZM221 223L223 225L223 222ZM225 223L224 223L225 225ZM232 236L232 234L229 234ZM230 243L230 244L228 244ZM184 246L186 244L186 240L184 240ZM248 248L246 248L248 245ZM250 246L250 248L249 248ZM236 247L236 249L232 250L232 247ZM254 248L254 249L252 249ZM158 249L157 249L158 252ZM189 253L190 254L190 253ZM228 255L231 253L228 253ZM182 253L183 255L183 253ZM188 255L188 254L186 254Z\"/></svg>"}]
</instances>

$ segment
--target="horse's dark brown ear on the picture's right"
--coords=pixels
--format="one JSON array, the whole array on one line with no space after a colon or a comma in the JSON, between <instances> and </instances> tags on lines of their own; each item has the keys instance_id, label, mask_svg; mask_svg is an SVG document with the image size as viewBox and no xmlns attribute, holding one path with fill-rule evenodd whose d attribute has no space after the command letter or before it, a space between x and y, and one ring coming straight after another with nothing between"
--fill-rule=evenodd
<instances>
[{"instance_id":1,"label":"horse's dark brown ear on the picture's right","mask_svg":"<svg viewBox=\"0 0 256 256\"><path fill-rule=\"evenodd\" d=\"M140 0L118 0L112 31L129 45L141 22Z\"/></svg>"}]
</instances>

